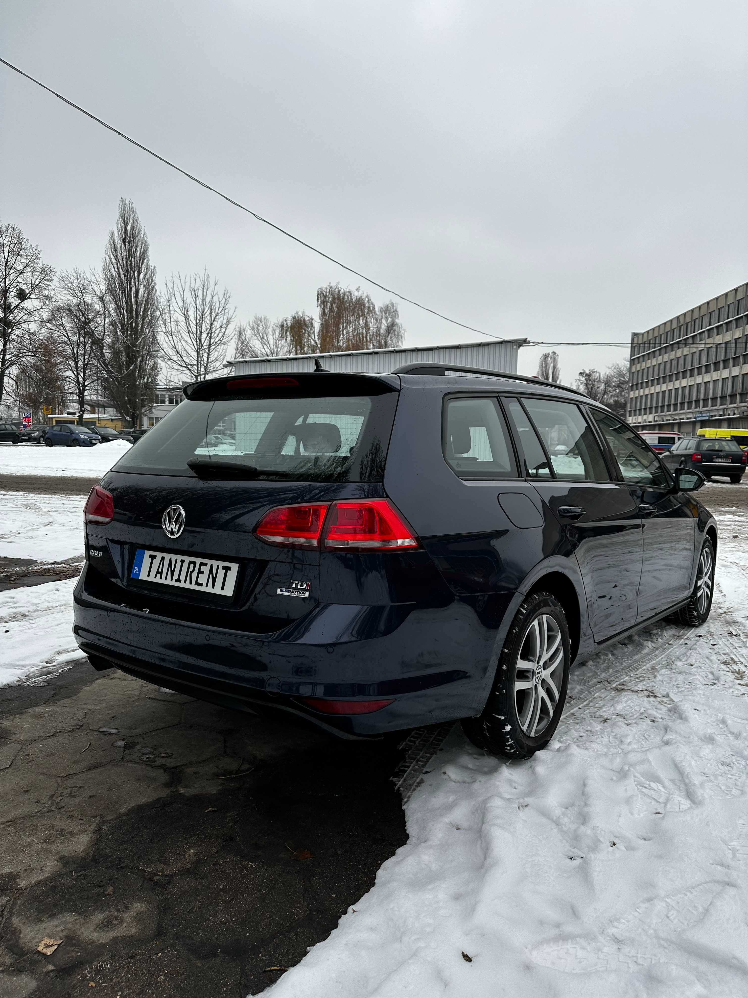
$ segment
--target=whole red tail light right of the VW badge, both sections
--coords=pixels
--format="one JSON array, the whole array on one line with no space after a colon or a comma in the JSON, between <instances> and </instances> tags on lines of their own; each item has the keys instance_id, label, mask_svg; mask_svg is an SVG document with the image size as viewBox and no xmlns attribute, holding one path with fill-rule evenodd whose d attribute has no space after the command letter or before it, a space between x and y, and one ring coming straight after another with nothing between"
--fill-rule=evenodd
<instances>
[{"instance_id":1,"label":"whole red tail light right of the VW badge, both sections","mask_svg":"<svg viewBox=\"0 0 748 998\"><path fill-rule=\"evenodd\" d=\"M388 499L278 506L265 513L255 534L267 544L317 551L420 547L418 538Z\"/></svg>"}]
</instances>

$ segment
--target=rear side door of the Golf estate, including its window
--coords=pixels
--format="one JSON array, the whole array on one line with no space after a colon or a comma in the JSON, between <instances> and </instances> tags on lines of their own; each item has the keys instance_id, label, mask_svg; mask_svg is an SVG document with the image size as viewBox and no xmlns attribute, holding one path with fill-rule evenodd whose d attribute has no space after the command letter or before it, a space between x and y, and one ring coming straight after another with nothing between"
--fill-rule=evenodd
<instances>
[{"instance_id":1,"label":"rear side door of the Golf estate, including its window","mask_svg":"<svg viewBox=\"0 0 748 998\"><path fill-rule=\"evenodd\" d=\"M579 566L596 642L632 627L641 577L641 518L611 474L592 426L571 402L507 398L526 470Z\"/></svg>"}]
</instances>

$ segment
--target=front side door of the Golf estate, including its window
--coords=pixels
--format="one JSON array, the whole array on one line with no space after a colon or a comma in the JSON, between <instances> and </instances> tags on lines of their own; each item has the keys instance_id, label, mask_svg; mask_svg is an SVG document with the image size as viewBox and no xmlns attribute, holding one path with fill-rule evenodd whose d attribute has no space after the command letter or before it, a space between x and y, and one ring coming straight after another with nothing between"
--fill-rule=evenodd
<instances>
[{"instance_id":1,"label":"front side door of the Golf estate, including its window","mask_svg":"<svg viewBox=\"0 0 748 998\"><path fill-rule=\"evenodd\" d=\"M591 409L591 416L641 514L638 620L644 621L690 593L698 506L687 493L672 491L662 462L637 433L612 413Z\"/></svg>"}]
</instances>

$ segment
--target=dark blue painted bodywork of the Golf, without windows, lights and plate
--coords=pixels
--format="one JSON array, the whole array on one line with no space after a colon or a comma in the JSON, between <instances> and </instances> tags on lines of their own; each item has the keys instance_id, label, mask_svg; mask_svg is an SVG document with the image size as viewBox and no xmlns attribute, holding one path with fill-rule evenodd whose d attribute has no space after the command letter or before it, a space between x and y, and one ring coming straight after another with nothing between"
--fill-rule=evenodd
<instances>
[{"instance_id":1,"label":"dark blue painted bodywork of the Golf, without windows, lights and plate","mask_svg":"<svg viewBox=\"0 0 748 998\"><path fill-rule=\"evenodd\" d=\"M81 648L95 661L204 699L290 710L338 734L367 737L479 713L513 617L539 584L567 603L576 661L684 602L707 529L716 544L713 518L692 496L645 495L622 481L462 480L442 453L444 395L513 394L515 386L454 376L401 380L382 483L202 481L117 468L105 476L115 520L88 526L75 592ZM548 394L531 386L522 393L532 391ZM565 392L556 397L579 403ZM607 451L606 460L612 463ZM423 550L319 553L270 547L253 534L273 506L384 496ZM582 502L581 521L559 512ZM646 516L644 502L655 507ZM187 514L177 540L161 528L172 503ZM682 578L661 602L673 544ZM138 548L238 561L236 595L228 602L179 591L165 597L130 579ZM294 580L310 583L308 600L276 595ZM642 586L647 601L637 601ZM302 697L394 703L331 718Z\"/></svg>"}]
</instances>

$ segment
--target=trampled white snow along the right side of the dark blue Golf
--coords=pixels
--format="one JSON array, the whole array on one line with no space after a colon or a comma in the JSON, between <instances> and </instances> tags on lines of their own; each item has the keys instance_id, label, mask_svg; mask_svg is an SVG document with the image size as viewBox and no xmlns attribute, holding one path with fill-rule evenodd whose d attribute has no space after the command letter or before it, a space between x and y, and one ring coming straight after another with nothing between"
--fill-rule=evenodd
<instances>
[{"instance_id":1,"label":"trampled white snow along the right side of the dark blue Golf","mask_svg":"<svg viewBox=\"0 0 748 998\"><path fill-rule=\"evenodd\" d=\"M273 998L748 994L748 576L722 521L712 615L576 670L549 749L451 747L409 841ZM741 543L742 542L742 543ZM468 957L470 959L468 959Z\"/></svg>"}]
</instances>

